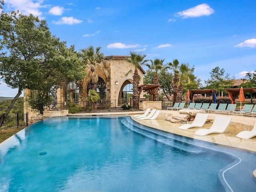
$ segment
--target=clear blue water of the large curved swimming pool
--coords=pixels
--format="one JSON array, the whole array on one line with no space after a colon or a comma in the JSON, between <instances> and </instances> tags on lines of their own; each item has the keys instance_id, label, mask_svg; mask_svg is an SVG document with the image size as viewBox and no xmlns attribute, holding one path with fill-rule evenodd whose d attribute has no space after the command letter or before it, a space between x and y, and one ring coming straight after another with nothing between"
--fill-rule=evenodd
<instances>
[{"instance_id":1,"label":"clear blue water of the large curved swimming pool","mask_svg":"<svg viewBox=\"0 0 256 192\"><path fill-rule=\"evenodd\" d=\"M130 117L50 118L0 144L0 192L255 192L256 154Z\"/></svg>"}]
</instances>

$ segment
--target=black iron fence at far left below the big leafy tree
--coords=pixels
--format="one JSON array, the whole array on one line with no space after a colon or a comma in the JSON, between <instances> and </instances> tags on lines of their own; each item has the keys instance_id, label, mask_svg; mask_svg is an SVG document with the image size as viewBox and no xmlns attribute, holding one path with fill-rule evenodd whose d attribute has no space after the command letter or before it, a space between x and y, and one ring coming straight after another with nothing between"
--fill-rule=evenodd
<instances>
[{"instance_id":1,"label":"black iron fence at far left below the big leafy tree","mask_svg":"<svg viewBox=\"0 0 256 192\"><path fill-rule=\"evenodd\" d=\"M4 123L0 127L0 130L7 130L10 128L20 128L28 126L28 113L26 114L8 114L4 119Z\"/></svg>"}]
</instances>

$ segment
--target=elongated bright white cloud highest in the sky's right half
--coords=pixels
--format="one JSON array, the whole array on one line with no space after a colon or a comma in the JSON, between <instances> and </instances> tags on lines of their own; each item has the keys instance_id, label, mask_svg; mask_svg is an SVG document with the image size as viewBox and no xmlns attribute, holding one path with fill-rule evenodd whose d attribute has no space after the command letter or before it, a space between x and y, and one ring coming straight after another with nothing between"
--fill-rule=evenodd
<instances>
[{"instance_id":1,"label":"elongated bright white cloud highest in the sky's right half","mask_svg":"<svg viewBox=\"0 0 256 192\"><path fill-rule=\"evenodd\" d=\"M178 12L177 15L182 18L209 16L214 13L214 10L210 8L208 4L200 4L190 9Z\"/></svg>"}]
</instances>

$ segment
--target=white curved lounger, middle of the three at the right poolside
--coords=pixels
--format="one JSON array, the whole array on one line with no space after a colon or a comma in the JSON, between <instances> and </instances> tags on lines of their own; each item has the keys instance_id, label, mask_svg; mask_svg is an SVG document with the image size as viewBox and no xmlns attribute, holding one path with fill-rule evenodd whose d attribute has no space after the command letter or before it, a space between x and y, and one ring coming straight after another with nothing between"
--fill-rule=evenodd
<instances>
[{"instance_id":1,"label":"white curved lounger, middle of the three at the right poolside","mask_svg":"<svg viewBox=\"0 0 256 192\"><path fill-rule=\"evenodd\" d=\"M223 133L230 124L231 119L231 117L227 116L216 116L210 129L200 129L194 134L204 136L211 133Z\"/></svg>"}]
</instances>

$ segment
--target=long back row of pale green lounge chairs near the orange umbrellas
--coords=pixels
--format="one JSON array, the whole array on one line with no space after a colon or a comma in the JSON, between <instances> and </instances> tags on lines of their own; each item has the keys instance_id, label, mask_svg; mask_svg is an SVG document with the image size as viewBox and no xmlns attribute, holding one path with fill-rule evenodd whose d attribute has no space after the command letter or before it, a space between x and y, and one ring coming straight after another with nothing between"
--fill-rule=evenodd
<instances>
[{"instance_id":1,"label":"long back row of pale green lounge chairs near the orange umbrellas","mask_svg":"<svg viewBox=\"0 0 256 192\"><path fill-rule=\"evenodd\" d=\"M217 103L190 103L187 109L201 109L205 110L208 113L218 112L218 114L252 114L252 117L255 117L256 114L256 105L245 104L242 110L236 110L236 104L226 104L220 103L217 109ZM167 110L180 110L184 109L185 103L176 102L173 107L167 107Z\"/></svg>"}]
</instances>

